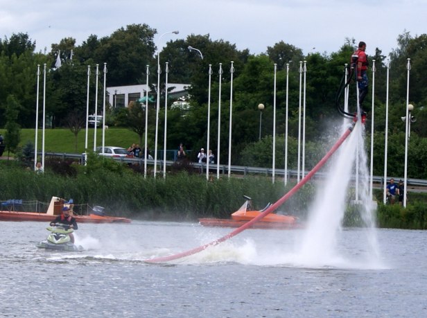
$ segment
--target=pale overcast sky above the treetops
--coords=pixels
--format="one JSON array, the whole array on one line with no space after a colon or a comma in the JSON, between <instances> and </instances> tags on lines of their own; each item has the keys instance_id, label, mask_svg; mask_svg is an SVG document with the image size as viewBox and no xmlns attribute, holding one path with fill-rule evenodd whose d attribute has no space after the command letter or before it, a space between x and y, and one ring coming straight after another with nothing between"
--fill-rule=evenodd
<instances>
[{"instance_id":1,"label":"pale overcast sky above the treetops","mask_svg":"<svg viewBox=\"0 0 427 318\"><path fill-rule=\"evenodd\" d=\"M165 35L159 46L187 35L224 39L239 50L259 54L283 40L313 51L332 53L346 38L367 42L388 55L405 30L427 33L426 0L0 0L0 36L28 33L37 51L51 51L64 37L82 44L128 24L148 24Z\"/></svg>"}]
</instances>

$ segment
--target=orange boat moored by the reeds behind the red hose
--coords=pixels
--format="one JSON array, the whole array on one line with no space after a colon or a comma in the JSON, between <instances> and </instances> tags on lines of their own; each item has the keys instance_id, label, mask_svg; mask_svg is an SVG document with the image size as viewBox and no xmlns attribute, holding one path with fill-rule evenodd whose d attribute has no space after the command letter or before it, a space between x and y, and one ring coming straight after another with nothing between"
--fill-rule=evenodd
<instances>
[{"instance_id":1,"label":"orange boat moored by the reeds behind the red hose","mask_svg":"<svg viewBox=\"0 0 427 318\"><path fill-rule=\"evenodd\" d=\"M252 210L252 199L245 196L245 203L236 212L232 213L231 219L200 218L199 222L204 227L241 227L243 224L256 218L270 206L268 204L262 210ZM281 215L270 213L264 218L252 224L250 229L299 229L302 225L299 218L294 215Z\"/></svg>"}]
</instances>

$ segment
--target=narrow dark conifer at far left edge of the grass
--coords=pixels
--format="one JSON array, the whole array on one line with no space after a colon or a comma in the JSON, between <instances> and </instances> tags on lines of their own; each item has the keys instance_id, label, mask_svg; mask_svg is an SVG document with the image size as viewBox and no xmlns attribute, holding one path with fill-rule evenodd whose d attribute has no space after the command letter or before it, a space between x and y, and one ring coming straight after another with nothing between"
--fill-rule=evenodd
<instances>
[{"instance_id":1,"label":"narrow dark conifer at far left edge of the grass","mask_svg":"<svg viewBox=\"0 0 427 318\"><path fill-rule=\"evenodd\" d=\"M10 152L15 152L19 141L21 139L21 129L17 123L19 109L21 105L19 105L17 99L13 95L9 95L6 100L6 149L8 150L8 155Z\"/></svg>"}]
</instances>

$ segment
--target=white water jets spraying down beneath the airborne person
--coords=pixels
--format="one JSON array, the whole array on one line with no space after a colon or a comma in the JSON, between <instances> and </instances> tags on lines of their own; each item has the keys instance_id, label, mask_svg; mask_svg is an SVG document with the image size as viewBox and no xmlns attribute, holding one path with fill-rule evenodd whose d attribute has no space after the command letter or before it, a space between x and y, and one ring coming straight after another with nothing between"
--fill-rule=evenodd
<instances>
[{"instance_id":1,"label":"white water jets spraying down beneath the airborne person","mask_svg":"<svg viewBox=\"0 0 427 318\"><path fill-rule=\"evenodd\" d=\"M308 267L347 266L353 260L345 260L338 251L339 234L342 232L342 219L344 218L347 191L351 183L351 175L359 175L358 200L356 201L361 217L365 223L365 233L369 251L369 263L378 264L378 246L372 216L372 202L369 197L367 156L363 142L364 126L358 121L349 139L338 150L338 156L331 165L331 171L326 177L324 185L317 193L317 198L311 209L306 231L297 253L293 255L291 263ZM359 149L359 150L358 150ZM358 157L358 171L354 170L356 157ZM362 234L360 234L362 235ZM347 263L347 264L346 264Z\"/></svg>"}]
</instances>

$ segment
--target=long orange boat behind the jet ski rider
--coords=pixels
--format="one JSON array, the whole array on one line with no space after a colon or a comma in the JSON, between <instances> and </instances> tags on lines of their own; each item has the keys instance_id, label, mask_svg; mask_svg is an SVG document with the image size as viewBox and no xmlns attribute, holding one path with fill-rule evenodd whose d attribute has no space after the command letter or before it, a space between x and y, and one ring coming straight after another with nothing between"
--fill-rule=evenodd
<instances>
[{"instance_id":1,"label":"long orange boat behind the jet ski rider","mask_svg":"<svg viewBox=\"0 0 427 318\"><path fill-rule=\"evenodd\" d=\"M17 200L14 200L14 204ZM8 206L6 204L1 205L0 211L0 221L40 221L40 222L50 222L55 219L57 215L61 214L62 208L64 206L73 207L73 202L64 202L60 197L52 197L49 207L46 212L22 212L22 211L13 211L13 209L8 209L8 211L3 211L3 206ZM9 204L10 206L10 204ZM82 223L130 223L131 220L128 218L116 218L113 216L103 215L103 208L101 206L95 206L92 210L92 213L88 215L77 215L73 214L73 218L76 218L77 222Z\"/></svg>"}]
</instances>

